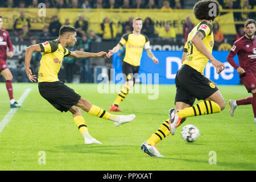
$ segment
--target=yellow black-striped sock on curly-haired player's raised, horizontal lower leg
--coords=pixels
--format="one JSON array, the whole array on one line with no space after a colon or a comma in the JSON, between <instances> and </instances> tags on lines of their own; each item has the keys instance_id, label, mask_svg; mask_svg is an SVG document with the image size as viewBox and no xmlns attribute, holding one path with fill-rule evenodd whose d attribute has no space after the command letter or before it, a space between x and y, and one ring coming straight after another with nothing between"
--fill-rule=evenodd
<instances>
[{"instance_id":1,"label":"yellow black-striped sock on curly-haired player's raised, horizontal lower leg","mask_svg":"<svg viewBox=\"0 0 256 182\"><path fill-rule=\"evenodd\" d=\"M203 101L199 104L181 109L177 112L177 115L181 118L192 117L196 115L220 113L220 106L213 101Z\"/></svg>"}]
</instances>

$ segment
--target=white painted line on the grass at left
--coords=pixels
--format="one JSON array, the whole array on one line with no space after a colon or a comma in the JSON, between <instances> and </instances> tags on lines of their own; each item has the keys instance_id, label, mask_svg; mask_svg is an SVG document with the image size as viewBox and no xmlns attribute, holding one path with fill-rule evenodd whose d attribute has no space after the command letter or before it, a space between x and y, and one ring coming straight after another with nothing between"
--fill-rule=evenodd
<instances>
[{"instance_id":1,"label":"white painted line on the grass at left","mask_svg":"<svg viewBox=\"0 0 256 182\"><path fill-rule=\"evenodd\" d=\"M26 97L28 96L30 91L31 91L31 89L26 89L25 90L25 92L22 94L22 96L18 100L19 104L22 104L22 102L26 99ZM5 118L3 118L3 120L0 122L0 133L5 128L7 123L9 123L9 121L11 120L11 118L13 117L13 115L16 113L16 111L18 109L19 108L10 109L10 111L5 115Z\"/></svg>"}]
</instances>

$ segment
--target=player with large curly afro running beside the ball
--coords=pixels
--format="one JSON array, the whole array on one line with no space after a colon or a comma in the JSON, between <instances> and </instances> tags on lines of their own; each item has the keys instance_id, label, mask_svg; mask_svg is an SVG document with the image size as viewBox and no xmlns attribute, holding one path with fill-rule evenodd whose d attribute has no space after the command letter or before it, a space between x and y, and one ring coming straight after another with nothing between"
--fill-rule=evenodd
<instances>
[{"instance_id":1,"label":"player with large curly afro running beside the ball","mask_svg":"<svg viewBox=\"0 0 256 182\"><path fill-rule=\"evenodd\" d=\"M160 128L152 136L143 142L141 150L150 156L164 157L156 149L155 145L170 133L175 134L175 129L185 121L187 117L220 113L225 108L225 101L215 86L203 75L208 60L220 73L225 66L212 56L213 33L212 22L216 16L211 16L210 3L216 4L215 13L218 16L220 9L217 1L199 1L193 7L193 11L200 23L188 34L182 57L182 67L176 74L175 109L170 110L170 119L162 123ZM213 6L214 7L214 6ZM204 100L193 106L195 99Z\"/></svg>"}]
</instances>

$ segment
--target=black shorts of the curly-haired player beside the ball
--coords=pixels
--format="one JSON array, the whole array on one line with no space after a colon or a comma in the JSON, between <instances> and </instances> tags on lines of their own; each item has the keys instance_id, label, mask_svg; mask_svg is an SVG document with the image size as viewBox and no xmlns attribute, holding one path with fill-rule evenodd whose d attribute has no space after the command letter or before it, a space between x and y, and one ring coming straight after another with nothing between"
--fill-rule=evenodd
<instances>
[{"instance_id":1,"label":"black shorts of the curly-haired player beside the ball","mask_svg":"<svg viewBox=\"0 0 256 182\"><path fill-rule=\"evenodd\" d=\"M218 88L204 75L189 65L183 65L176 74L175 102L184 102L192 106L197 100L205 100Z\"/></svg>"}]
</instances>

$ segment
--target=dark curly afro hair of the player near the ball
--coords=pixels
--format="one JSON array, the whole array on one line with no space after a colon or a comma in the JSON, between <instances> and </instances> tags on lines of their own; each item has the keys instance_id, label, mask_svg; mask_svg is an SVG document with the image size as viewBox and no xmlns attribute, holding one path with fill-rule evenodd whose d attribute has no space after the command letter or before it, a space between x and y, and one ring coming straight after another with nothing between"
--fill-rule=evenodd
<instances>
[{"instance_id":1,"label":"dark curly afro hair of the player near the ball","mask_svg":"<svg viewBox=\"0 0 256 182\"><path fill-rule=\"evenodd\" d=\"M214 15L210 13L214 7L210 5L211 3L216 4L216 12ZM214 0L202 0L195 4L193 7L193 12L196 19L214 20L220 14L220 5Z\"/></svg>"}]
</instances>

